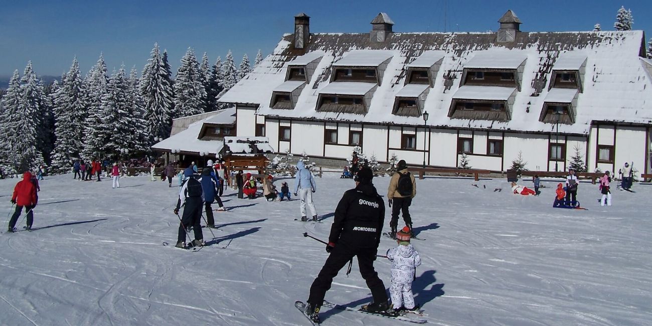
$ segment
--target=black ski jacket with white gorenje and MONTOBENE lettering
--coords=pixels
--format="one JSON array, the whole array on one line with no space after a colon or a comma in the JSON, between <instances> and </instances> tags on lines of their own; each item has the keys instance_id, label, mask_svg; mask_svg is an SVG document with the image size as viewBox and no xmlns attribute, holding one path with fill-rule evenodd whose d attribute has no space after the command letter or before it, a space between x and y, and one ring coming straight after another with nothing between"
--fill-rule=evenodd
<instances>
[{"instance_id":1,"label":"black ski jacket with white gorenje and MONTOBENE lettering","mask_svg":"<svg viewBox=\"0 0 652 326\"><path fill-rule=\"evenodd\" d=\"M329 242L351 248L378 248L385 203L371 183L344 192L337 204Z\"/></svg>"}]
</instances>

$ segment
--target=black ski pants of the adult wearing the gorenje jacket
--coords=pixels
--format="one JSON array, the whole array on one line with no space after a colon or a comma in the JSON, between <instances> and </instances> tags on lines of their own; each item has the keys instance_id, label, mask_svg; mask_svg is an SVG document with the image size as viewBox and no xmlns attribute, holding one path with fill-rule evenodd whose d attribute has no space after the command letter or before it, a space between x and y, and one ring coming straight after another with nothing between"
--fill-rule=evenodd
<instances>
[{"instance_id":1,"label":"black ski pants of the adult wearing the gorenje jacket","mask_svg":"<svg viewBox=\"0 0 652 326\"><path fill-rule=\"evenodd\" d=\"M358 267L360 274L366 281L367 287L371 290L375 303L387 302L387 291L385 284L378 277L374 270L374 260L376 259L376 248L349 248L344 244L339 244L333 248L331 255L328 256L319 275L310 286L310 297L308 303L321 306L326 295L326 291L331 289L333 278L337 273L346 266L346 264L355 256L358 258Z\"/></svg>"}]
</instances>

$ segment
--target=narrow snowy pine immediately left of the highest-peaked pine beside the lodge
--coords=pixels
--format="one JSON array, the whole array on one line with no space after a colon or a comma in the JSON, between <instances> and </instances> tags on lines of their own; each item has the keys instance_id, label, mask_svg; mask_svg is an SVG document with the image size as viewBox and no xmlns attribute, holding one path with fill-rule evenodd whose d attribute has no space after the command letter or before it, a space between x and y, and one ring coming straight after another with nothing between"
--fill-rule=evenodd
<instances>
[{"instance_id":1,"label":"narrow snowy pine immediately left of the highest-peaked pine beside the lodge","mask_svg":"<svg viewBox=\"0 0 652 326\"><path fill-rule=\"evenodd\" d=\"M143 102L143 96L140 95L138 89L140 85L140 78L138 78L138 70L136 67L131 68L131 73L129 74L129 89L128 96L129 100L132 103L130 106L129 115L133 119L133 129L134 132L134 141L132 145L132 153L147 153L149 152L149 143L147 141L147 123L145 123L145 102Z\"/></svg>"}]
</instances>

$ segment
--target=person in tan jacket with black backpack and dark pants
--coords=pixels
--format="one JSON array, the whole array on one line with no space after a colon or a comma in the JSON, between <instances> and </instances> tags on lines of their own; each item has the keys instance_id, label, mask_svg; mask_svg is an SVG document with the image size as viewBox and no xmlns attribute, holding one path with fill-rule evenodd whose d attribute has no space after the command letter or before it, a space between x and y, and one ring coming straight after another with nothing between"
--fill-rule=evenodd
<instances>
[{"instance_id":1,"label":"person in tan jacket with black backpack and dark pants","mask_svg":"<svg viewBox=\"0 0 652 326\"><path fill-rule=\"evenodd\" d=\"M412 234L412 218L409 216L409 205L411 205L414 196L417 196L417 182L414 175L409 173L406 161L400 160L396 164L396 173L392 175L387 189L387 201L389 207L392 208L392 220L389 222L392 229L389 234L392 239L396 239L399 212L403 214L403 220Z\"/></svg>"}]
</instances>

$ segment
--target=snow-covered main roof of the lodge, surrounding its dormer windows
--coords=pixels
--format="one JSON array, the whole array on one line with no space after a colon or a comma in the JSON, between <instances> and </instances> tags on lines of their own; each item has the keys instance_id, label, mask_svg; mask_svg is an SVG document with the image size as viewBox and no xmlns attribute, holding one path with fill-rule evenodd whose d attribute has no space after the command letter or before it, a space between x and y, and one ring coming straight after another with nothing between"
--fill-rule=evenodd
<instances>
[{"instance_id":1,"label":"snow-covered main roof of the lodge, surrounding its dormer windows","mask_svg":"<svg viewBox=\"0 0 652 326\"><path fill-rule=\"evenodd\" d=\"M577 53L587 57L586 67L595 68L585 71L583 93L577 98L575 123L560 125L559 132L587 135L592 121L652 123L652 66L638 56L644 41L643 31L520 32L516 33L516 40L509 44L509 48L496 44L496 33L393 33L391 42L387 44L370 43L368 33L311 33L306 54L320 52L323 58L301 91L293 110L273 109L270 108L273 89L284 82L288 62L296 57L291 40L293 35L284 35L273 53L219 101L253 104L258 106L256 114L281 119L422 125L419 117L393 115L393 104L396 94L403 88L398 85L404 84L409 63L425 51L434 50L445 52L445 56L439 72L432 76L434 85L424 102L424 110L430 113L428 125L552 132L553 128L556 130L554 125L539 121L537 110L526 109L542 107L548 89L544 87L539 93L535 81L537 78L550 80L559 53ZM376 50L378 48L383 50ZM319 94L331 84L342 83L330 82L332 63L358 52L391 55L381 85L367 106L367 113L316 111ZM516 68L523 63L522 75L519 76L521 89L514 94L509 121L451 119L448 116L452 96L460 87L462 71L473 57L481 57L481 53L487 57L509 57L509 65L492 64L491 67ZM453 82L445 78L452 78Z\"/></svg>"}]
</instances>

